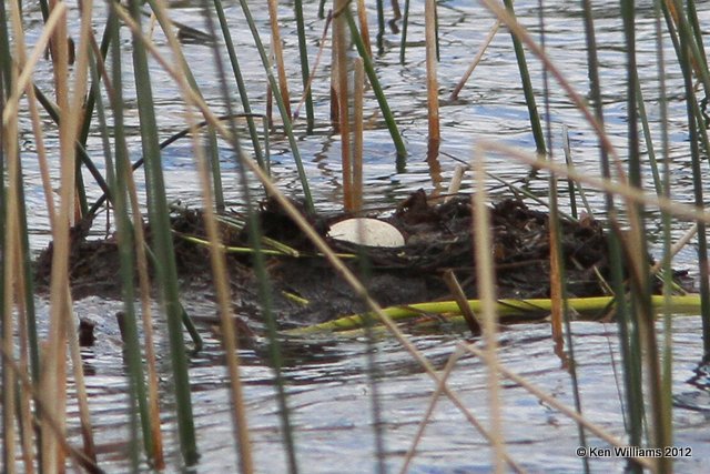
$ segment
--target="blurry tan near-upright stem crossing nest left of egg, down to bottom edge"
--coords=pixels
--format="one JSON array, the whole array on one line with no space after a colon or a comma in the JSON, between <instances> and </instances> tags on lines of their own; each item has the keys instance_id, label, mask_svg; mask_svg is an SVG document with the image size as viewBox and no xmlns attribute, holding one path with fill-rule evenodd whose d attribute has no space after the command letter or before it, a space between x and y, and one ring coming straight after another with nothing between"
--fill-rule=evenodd
<instances>
[{"instance_id":1,"label":"blurry tan near-upright stem crossing nest left of egg, down to bottom edge","mask_svg":"<svg viewBox=\"0 0 710 474\"><path fill-rule=\"evenodd\" d=\"M164 16L165 20L170 21L163 0L158 0L156 6L159 13ZM172 31L165 33L168 34L173 54L182 59L181 61L179 61L179 64L182 68L185 68L186 62L182 57L182 50L180 48L178 39L172 33ZM186 74L183 73L183 77L186 77ZM191 134L193 139L193 152L195 154L195 163L197 164L200 184L202 188L202 199L204 202L204 223L207 232L207 239L210 241L210 260L212 264L212 273L215 281L217 306L220 311L220 320L222 323L222 341L224 345L226 364L230 372L232 402L234 404L233 423L239 444L239 462L241 472L243 474L251 474L252 472L254 472L254 463L251 452L246 409L244 407L242 379L240 375L240 362L236 355L239 344L235 335L234 323L232 320L232 295L227 283L229 278L226 271L226 261L224 258L224 245L222 245L220 240L216 218L214 214L214 198L212 194L210 180L210 165L207 163L206 157L204 157L204 151L200 143L197 121L195 120L193 112L193 108L195 105L191 101L191 97L195 94L196 91L190 88L186 82L181 82L179 85L181 85L180 89L186 105L185 121L187 122L187 125L192 131ZM284 98L284 101L287 101L287 95ZM291 112L288 113L291 114Z\"/></svg>"}]
</instances>

